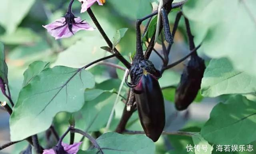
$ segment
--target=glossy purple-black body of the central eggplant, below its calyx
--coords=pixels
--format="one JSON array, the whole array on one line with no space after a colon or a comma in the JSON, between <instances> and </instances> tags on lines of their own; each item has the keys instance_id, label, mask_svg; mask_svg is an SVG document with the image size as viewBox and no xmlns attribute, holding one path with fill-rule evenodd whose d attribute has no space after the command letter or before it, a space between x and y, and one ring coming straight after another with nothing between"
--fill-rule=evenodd
<instances>
[{"instance_id":1,"label":"glossy purple-black body of the central eggplant, below its calyx","mask_svg":"<svg viewBox=\"0 0 256 154\"><path fill-rule=\"evenodd\" d=\"M140 91L135 90L140 123L146 136L156 142L165 126L164 97L158 80L151 74L143 74Z\"/></svg>"}]
</instances>

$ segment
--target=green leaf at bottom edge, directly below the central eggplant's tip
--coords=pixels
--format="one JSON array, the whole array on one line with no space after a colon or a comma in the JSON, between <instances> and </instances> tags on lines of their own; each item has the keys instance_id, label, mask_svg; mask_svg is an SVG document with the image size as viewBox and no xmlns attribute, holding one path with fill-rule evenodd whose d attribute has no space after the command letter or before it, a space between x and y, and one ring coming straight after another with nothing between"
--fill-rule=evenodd
<instances>
[{"instance_id":1,"label":"green leaf at bottom edge, directly below the central eggplant's tip","mask_svg":"<svg viewBox=\"0 0 256 154\"><path fill-rule=\"evenodd\" d=\"M154 154L155 144L145 135L105 133L96 139L104 154ZM96 154L91 153L91 154Z\"/></svg>"}]
</instances>

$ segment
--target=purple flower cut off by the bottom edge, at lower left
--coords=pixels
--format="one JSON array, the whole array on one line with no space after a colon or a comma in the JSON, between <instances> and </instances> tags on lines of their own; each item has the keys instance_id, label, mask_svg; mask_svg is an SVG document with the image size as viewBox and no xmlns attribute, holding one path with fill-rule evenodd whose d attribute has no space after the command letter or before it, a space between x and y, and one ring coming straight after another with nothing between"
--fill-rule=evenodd
<instances>
[{"instance_id":1,"label":"purple flower cut off by the bottom edge, at lower left","mask_svg":"<svg viewBox=\"0 0 256 154\"><path fill-rule=\"evenodd\" d=\"M61 143L62 146L55 146L52 149L44 150L43 154L76 154L82 142L74 144Z\"/></svg>"}]
</instances>

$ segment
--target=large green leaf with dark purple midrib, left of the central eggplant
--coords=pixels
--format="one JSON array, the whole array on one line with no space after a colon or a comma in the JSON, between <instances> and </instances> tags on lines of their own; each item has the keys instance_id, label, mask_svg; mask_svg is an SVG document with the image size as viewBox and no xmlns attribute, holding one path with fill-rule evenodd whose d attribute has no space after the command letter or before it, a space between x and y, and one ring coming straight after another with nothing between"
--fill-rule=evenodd
<instances>
[{"instance_id":1,"label":"large green leaf with dark purple midrib, left of the central eggplant","mask_svg":"<svg viewBox=\"0 0 256 154\"><path fill-rule=\"evenodd\" d=\"M84 104L85 88L92 87L94 78L87 70L65 66L44 69L20 91L10 117L11 140L45 131L60 111L78 111Z\"/></svg>"}]
</instances>

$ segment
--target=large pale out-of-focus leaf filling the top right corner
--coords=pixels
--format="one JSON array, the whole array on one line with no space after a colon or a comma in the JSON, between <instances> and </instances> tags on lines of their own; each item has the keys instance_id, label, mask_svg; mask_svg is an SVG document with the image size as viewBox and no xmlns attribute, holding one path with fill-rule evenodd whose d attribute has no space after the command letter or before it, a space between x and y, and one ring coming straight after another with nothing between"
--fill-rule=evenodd
<instances>
[{"instance_id":1,"label":"large pale out-of-focus leaf filling the top right corner","mask_svg":"<svg viewBox=\"0 0 256 154\"><path fill-rule=\"evenodd\" d=\"M255 0L189 0L183 7L197 43L211 58L228 57L235 68L256 76Z\"/></svg>"}]
</instances>

